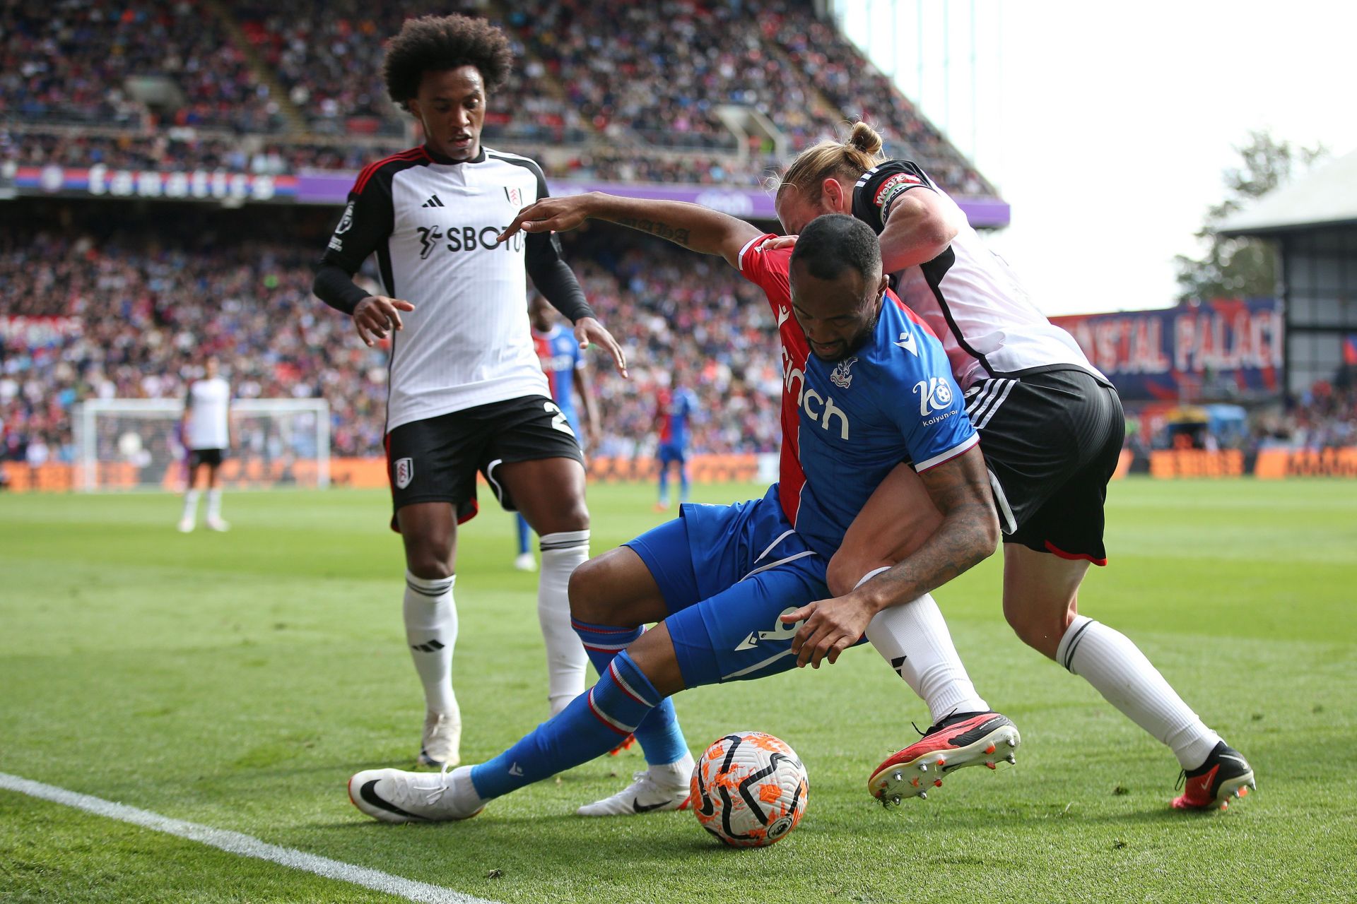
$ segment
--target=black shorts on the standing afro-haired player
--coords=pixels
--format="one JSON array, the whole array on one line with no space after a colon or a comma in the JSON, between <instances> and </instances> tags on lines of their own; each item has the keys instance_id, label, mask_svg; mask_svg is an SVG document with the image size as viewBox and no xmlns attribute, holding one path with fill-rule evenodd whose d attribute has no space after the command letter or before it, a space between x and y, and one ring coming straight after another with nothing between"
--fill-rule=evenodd
<instances>
[{"instance_id":1,"label":"black shorts on the standing afro-haired player","mask_svg":"<svg viewBox=\"0 0 1357 904\"><path fill-rule=\"evenodd\" d=\"M452 503L457 523L476 515L476 472L490 481L499 504L517 511L495 468L516 461L574 458L584 453L556 403L524 396L400 424L387 434L391 527L395 512L414 503Z\"/></svg>"}]
</instances>

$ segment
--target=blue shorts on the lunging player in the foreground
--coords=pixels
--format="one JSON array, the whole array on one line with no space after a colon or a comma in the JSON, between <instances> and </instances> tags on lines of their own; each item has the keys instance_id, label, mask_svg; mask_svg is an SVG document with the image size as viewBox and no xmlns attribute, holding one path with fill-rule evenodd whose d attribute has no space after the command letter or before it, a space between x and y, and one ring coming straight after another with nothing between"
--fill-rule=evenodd
<instances>
[{"instance_id":1,"label":"blue shorts on the lunging player in the foreground","mask_svg":"<svg viewBox=\"0 0 1357 904\"><path fill-rule=\"evenodd\" d=\"M791 668L801 622L779 615L830 596L826 562L787 523L776 484L748 503L684 504L678 518L626 545L664 594L687 687Z\"/></svg>"}]
</instances>

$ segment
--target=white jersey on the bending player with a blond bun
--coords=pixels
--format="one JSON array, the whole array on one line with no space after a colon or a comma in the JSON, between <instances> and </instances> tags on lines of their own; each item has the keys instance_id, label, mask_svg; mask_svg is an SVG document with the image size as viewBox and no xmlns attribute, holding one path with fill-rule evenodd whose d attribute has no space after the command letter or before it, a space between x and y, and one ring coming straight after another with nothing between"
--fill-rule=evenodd
<instances>
[{"instance_id":1,"label":"white jersey on the bending player with a blond bun","mask_svg":"<svg viewBox=\"0 0 1357 904\"><path fill-rule=\"evenodd\" d=\"M852 213L879 234L892 202L912 188L936 191L957 207L917 164L890 160L858 180ZM957 213L965 222L959 207ZM938 258L892 274L892 285L942 340L962 389L977 379L1056 367L1087 370L1107 382L1073 336L1037 309L1008 264L985 247L969 224Z\"/></svg>"}]
</instances>

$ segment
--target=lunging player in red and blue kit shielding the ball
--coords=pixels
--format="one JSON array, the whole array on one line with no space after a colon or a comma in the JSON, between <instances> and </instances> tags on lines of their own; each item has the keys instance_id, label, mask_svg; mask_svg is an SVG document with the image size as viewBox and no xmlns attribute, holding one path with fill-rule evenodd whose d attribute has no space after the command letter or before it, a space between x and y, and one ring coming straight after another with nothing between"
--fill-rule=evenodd
<instances>
[{"instance_id":1,"label":"lunging player in red and blue kit shielding the ball","mask_svg":"<svg viewBox=\"0 0 1357 904\"><path fill-rule=\"evenodd\" d=\"M522 221L520 215L510 232ZM726 222L734 228L721 225ZM901 461L920 472L942 519L898 567L913 587L877 606L908 609L901 603L993 552L999 520L977 434L940 344L886 290L871 230L851 217L825 217L807 228L788 270L786 255L768 260L759 252L754 245L765 239L759 230L731 218L718 225L710 244L695 240L692 247L725 255L765 289L790 289L790 304L773 302L786 377L782 480L759 500L684 506L678 519L582 565L571 579L571 614L598 683L487 763L438 777L356 774L349 796L364 813L392 823L467 819L489 800L607 752L630 732L651 762L651 781L638 778L617 796L623 800L596 805L597 815L684 806L692 758L669 695L798 663L818 667L821 657L835 661L860 640L862 630L794 642L799 621L828 594L829 556ZM900 590L902 581L892 587ZM658 625L642 633L647 622ZM969 679L962 675L954 684L965 686L958 707L985 709ZM1018 744L1007 718L977 716L968 744L947 749L949 766L992 764L996 745ZM655 787L661 777L654 768L666 756L674 758L668 790ZM627 809L619 806L623 801Z\"/></svg>"}]
</instances>

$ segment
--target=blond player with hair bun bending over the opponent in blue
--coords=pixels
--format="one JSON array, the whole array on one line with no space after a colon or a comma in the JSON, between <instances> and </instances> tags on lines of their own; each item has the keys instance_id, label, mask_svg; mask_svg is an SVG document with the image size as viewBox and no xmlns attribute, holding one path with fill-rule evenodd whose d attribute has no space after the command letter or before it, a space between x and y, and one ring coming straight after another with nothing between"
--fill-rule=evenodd
<instances>
[{"instance_id":1,"label":"blond player with hair bun bending over the opponent in blue","mask_svg":"<svg viewBox=\"0 0 1357 904\"><path fill-rule=\"evenodd\" d=\"M1186 775L1175 808L1223 806L1254 786L1248 763L1125 634L1077 611L1088 564L1107 564L1103 501L1125 435L1117 392L957 203L917 164L881 150L859 122L847 141L802 152L778 187L779 220L795 234L821 214L847 213L878 233L892 286L942 340L980 432L1004 530L1008 623L1172 749ZM908 554L919 525L901 512L921 507L928 515L916 520L930 522L927 501L906 469L883 482L829 567L830 590L845 594Z\"/></svg>"}]
</instances>

